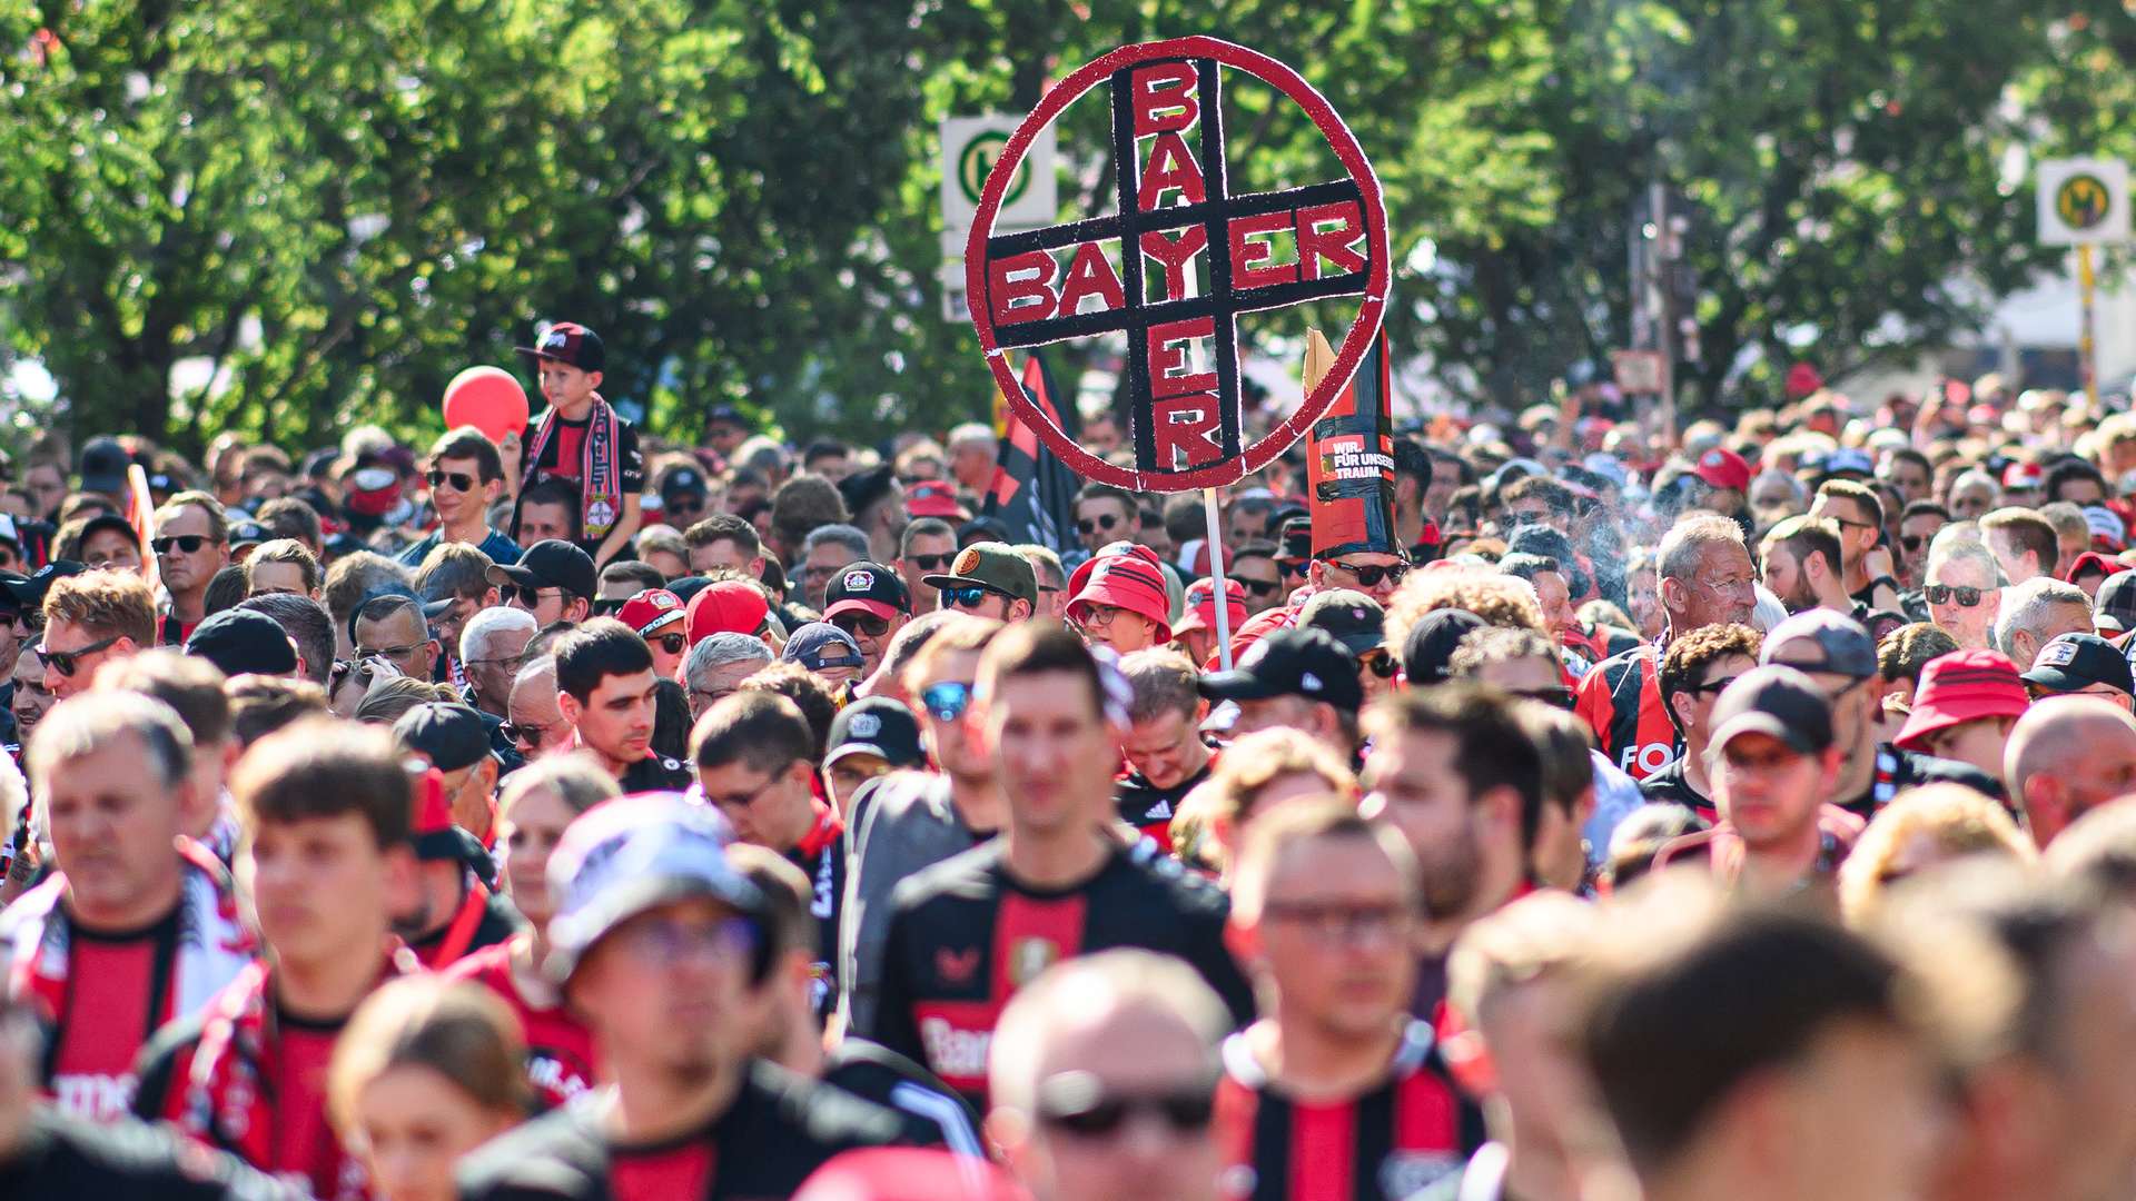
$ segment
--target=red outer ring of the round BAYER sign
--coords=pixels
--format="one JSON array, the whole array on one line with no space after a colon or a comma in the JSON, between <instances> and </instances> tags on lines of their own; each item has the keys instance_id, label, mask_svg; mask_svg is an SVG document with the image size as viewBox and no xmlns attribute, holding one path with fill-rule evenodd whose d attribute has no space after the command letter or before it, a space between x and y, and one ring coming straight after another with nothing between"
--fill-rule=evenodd
<instances>
[{"instance_id":1,"label":"red outer ring of the round BAYER sign","mask_svg":"<svg viewBox=\"0 0 2136 1201\"><path fill-rule=\"evenodd\" d=\"M987 173L987 186L980 192L978 212L972 216L972 233L965 237L963 286L968 299L983 301L987 295L987 237L993 233L993 220L1002 212L1002 192L1008 188L1008 180L1030 152L1032 139L1038 137L1042 128L1053 124L1062 109L1083 98L1085 92L1098 85L1100 79L1106 79L1121 66L1156 58L1213 58L1232 71L1243 71L1262 83L1269 83L1294 105L1305 109L1305 115L1314 120L1320 137L1329 141L1329 150L1335 152L1335 158L1358 186L1358 194L1365 201L1365 252L1371 256L1371 265L1367 267L1365 295L1358 301L1356 321L1350 323L1350 331L1344 336L1341 346L1335 353L1335 365L1326 376L1322 376L1320 387L1305 395L1299 408L1275 425L1275 430L1269 430L1230 459L1205 464L1183 472L1141 472L1091 455L1059 425L1047 421L1038 406L1023 395L1023 383L1017 378L1015 370L1010 370L1008 355L995 346L993 318L985 316L985 303L968 303L968 310L972 314L972 329L978 333L978 346L987 355L987 365L993 370L993 380L1002 389L1002 395L1008 397L1017 417L1032 425L1038 438L1077 474L1113 487L1124 487L1128 492L1192 492L1196 487L1235 483L1269 466L1277 455L1288 451L1292 442L1305 436L1305 430L1318 421L1331 404L1335 404L1335 395L1350 383L1350 376L1365 359L1371 340L1380 333L1380 321L1386 314L1386 293L1393 267L1386 259L1386 205L1380 197L1380 177L1373 175L1371 162L1365 160L1365 150L1356 143L1356 135L1350 132L1350 126L1346 126L1335 113L1335 107L1329 105L1326 96L1322 96L1297 71L1260 51L1252 51L1222 38L1185 36L1124 45L1083 64L1074 75L1055 83L1053 90L1038 100L1038 107L1032 109L1021 124L1017 124L1017 130L1008 135L1008 145L1004 145L1002 154L993 160L993 171ZM1232 325L1230 336L1237 338L1237 325Z\"/></svg>"}]
</instances>

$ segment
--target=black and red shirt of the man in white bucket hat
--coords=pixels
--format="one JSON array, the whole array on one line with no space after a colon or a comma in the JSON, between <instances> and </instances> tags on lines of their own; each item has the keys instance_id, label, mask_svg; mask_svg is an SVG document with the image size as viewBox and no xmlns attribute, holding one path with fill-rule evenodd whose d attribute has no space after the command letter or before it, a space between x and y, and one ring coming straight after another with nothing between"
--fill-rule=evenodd
<instances>
[{"instance_id":1,"label":"black and red shirt of the man in white bucket hat","mask_svg":"<svg viewBox=\"0 0 2136 1201\"><path fill-rule=\"evenodd\" d=\"M790 1197L831 1156L904 1135L895 1113L771 1064L752 1064L726 1113L671 1143L619 1148L600 1113L581 1101L489 1141L459 1165L461 1201Z\"/></svg>"}]
</instances>

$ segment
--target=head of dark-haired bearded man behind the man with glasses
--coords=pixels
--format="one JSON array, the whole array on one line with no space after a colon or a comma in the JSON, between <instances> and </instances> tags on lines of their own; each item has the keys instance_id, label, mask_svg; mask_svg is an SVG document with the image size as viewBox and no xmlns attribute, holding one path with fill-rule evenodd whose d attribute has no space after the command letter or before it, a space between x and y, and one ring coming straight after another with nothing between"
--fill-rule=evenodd
<instances>
[{"instance_id":1,"label":"head of dark-haired bearded man behind the man with glasses","mask_svg":"<svg viewBox=\"0 0 2136 1201\"><path fill-rule=\"evenodd\" d=\"M1542 812L1542 754L1502 692L1474 684L1405 690L1365 718L1365 804L1423 865L1423 953L1410 1013L1446 996L1446 953L1478 917L1536 889L1527 874Z\"/></svg>"}]
</instances>

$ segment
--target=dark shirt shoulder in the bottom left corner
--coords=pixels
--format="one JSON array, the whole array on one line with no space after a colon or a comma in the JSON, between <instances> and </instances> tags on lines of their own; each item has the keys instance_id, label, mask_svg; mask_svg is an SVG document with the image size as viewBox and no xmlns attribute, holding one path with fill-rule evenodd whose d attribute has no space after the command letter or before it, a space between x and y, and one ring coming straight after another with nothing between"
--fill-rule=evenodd
<instances>
[{"instance_id":1,"label":"dark shirt shoulder in the bottom left corner","mask_svg":"<svg viewBox=\"0 0 2136 1201\"><path fill-rule=\"evenodd\" d=\"M295 1201L286 1186L145 1122L83 1122L49 1107L30 1111L13 1152L0 1156L9 1201Z\"/></svg>"}]
</instances>

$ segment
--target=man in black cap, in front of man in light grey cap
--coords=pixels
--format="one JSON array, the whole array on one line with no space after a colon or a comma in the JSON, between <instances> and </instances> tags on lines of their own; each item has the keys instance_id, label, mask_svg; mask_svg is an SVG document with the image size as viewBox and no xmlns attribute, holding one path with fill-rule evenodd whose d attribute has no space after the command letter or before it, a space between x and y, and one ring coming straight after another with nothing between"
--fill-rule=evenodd
<instances>
[{"instance_id":1,"label":"man in black cap, in front of man in light grey cap","mask_svg":"<svg viewBox=\"0 0 2136 1201\"><path fill-rule=\"evenodd\" d=\"M1655 870L1707 861L1715 878L1777 898L1831 887L1863 821L1822 804L1843 752L1824 692L1792 667L1758 667L1713 703L1707 771L1722 821L1662 846Z\"/></svg>"}]
</instances>

